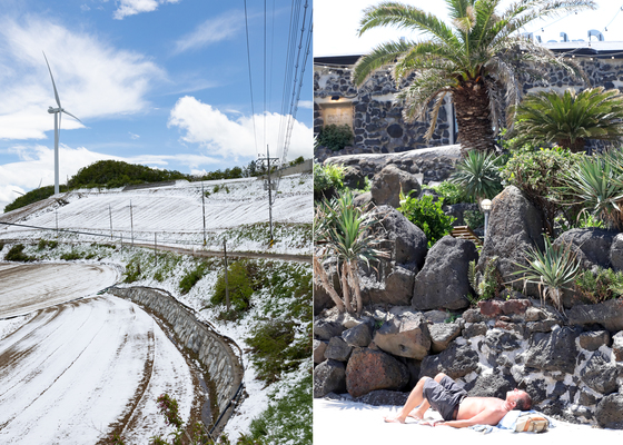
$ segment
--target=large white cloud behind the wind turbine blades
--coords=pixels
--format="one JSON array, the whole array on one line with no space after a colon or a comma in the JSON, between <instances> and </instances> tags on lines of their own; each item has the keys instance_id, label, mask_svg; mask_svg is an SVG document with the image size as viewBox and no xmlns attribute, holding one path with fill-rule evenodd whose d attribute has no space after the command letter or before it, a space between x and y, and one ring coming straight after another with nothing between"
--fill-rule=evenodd
<instances>
[{"instance_id":1,"label":"large white cloud behind the wind turbine blades","mask_svg":"<svg viewBox=\"0 0 623 445\"><path fill-rule=\"evenodd\" d=\"M56 107L55 96L41 50L63 108L86 125L90 118L147 109L145 96L155 79L164 78L141 55L36 17L0 20L0 139L42 139L53 129L47 109ZM62 129L81 127L62 119Z\"/></svg>"}]
</instances>

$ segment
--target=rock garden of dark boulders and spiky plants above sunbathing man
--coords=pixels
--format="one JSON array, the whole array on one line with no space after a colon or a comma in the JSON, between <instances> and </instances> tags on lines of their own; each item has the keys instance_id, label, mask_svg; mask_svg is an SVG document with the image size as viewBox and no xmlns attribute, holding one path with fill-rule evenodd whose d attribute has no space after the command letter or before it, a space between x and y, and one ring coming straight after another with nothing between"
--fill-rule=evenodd
<instances>
[{"instance_id":1,"label":"rock garden of dark boulders and spiky plants above sunbathing man","mask_svg":"<svg viewBox=\"0 0 623 445\"><path fill-rule=\"evenodd\" d=\"M447 146L316 175L332 169L316 190L315 397L402 405L443 372L471 396L518 387L554 418L623 428L621 151Z\"/></svg>"}]
</instances>

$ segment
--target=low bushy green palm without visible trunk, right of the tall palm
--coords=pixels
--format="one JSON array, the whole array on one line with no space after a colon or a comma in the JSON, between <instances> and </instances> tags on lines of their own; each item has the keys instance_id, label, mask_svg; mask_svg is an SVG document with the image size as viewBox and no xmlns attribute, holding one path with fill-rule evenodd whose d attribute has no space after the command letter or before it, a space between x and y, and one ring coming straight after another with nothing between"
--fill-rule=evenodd
<instances>
[{"instance_id":1,"label":"low bushy green palm without visible trunk, right of the tall palm","mask_svg":"<svg viewBox=\"0 0 623 445\"><path fill-rule=\"evenodd\" d=\"M526 96L514 110L517 145L556 142L578 152L586 139L623 139L623 95L617 89L538 91Z\"/></svg>"}]
</instances>

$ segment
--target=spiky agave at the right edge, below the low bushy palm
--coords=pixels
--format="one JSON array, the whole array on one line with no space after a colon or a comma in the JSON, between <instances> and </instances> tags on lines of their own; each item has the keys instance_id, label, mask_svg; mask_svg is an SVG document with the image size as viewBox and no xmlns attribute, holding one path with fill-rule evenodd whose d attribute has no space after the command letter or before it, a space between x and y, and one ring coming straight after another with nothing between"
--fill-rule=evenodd
<instances>
[{"instance_id":1,"label":"spiky agave at the right edge, below the low bushy palm","mask_svg":"<svg viewBox=\"0 0 623 445\"><path fill-rule=\"evenodd\" d=\"M623 155L581 159L565 176L564 191L609 226L623 228Z\"/></svg>"}]
</instances>

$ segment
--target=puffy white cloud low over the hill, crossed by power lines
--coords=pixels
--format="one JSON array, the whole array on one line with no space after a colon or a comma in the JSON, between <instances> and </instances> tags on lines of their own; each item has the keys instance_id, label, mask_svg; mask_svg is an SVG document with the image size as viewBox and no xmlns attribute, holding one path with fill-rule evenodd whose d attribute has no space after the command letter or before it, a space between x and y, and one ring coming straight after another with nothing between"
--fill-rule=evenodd
<instances>
[{"instance_id":1,"label":"puffy white cloud low over the hill, crossed by power lines","mask_svg":"<svg viewBox=\"0 0 623 445\"><path fill-rule=\"evenodd\" d=\"M255 131L253 117L229 118L208 103L194 97L179 99L169 116L169 127L179 127L186 142L198 144L208 155L224 158L256 157L266 152L265 144L271 148L271 156L280 155L279 131L283 131L285 118L278 113L266 115L267 135L264 138L264 116L256 116ZM283 134L281 134L283 135ZM257 136L257 138L256 138ZM257 140L257 149L256 149ZM295 121L293 126L288 159L298 156L310 158L313 152L313 132L305 123Z\"/></svg>"}]
</instances>

